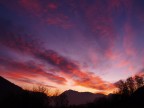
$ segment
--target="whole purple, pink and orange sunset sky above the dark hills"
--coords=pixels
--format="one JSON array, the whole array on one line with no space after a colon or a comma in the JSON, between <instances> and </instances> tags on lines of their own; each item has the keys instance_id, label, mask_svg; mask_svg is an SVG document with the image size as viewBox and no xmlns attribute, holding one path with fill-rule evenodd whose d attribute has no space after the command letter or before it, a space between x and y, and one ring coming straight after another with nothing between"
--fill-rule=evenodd
<instances>
[{"instance_id":1,"label":"whole purple, pink and orange sunset sky above the dark hills","mask_svg":"<svg viewBox=\"0 0 144 108\"><path fill-rule=\"evenodd\" d=\"M0 0L0 75L111 93L144 72L143 11L143 0Z\"/></svg>"}]
</instances>

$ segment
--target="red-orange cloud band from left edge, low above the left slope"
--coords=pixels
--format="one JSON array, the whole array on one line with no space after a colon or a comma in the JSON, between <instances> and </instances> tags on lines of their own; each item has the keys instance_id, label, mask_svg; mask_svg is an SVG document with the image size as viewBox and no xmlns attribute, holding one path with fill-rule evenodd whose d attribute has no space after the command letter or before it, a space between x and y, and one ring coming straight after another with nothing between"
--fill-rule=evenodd
<instances>
[{"instance_id":1,"label":"red-orange cloud band from left edge, low above the left slope","mask_svg":"<svg viewBox=\"0 0 144 108\"><path fill-rule=\"evenodd\" d=\"M66 83L65 78L48 73L34 62L23 63L11 59L0 58L0 66L1 74L3 73L8 76L11 76L13 77L13 79L21 79L23 77L28 77L29 79L33 79L35 77L45 77L47 80L53 81L57 84L65 85Z\"/></svg>"}]
</instances>

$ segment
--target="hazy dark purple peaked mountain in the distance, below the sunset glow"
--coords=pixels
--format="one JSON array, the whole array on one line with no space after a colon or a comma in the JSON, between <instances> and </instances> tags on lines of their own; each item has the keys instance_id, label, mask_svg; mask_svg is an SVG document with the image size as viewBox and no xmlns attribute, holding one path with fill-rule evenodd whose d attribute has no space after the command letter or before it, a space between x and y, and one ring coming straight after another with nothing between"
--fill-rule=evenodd
<instances>
[{"instance_id":1,"label":"hazy dark purple peaked mountain in the distance, below the sunset glow","mask_svg":"<svg viewBox=\"0 0 144 108\"><path fill-rule=\"evenodd\" d=\"M105 97L104 94L94 94L90 92L78 92L74 90L67 90L61 95L65 94L68 98L69 105L81 105L89 102L93 102L101 97Z\"/></svg>"}]
</instances>

